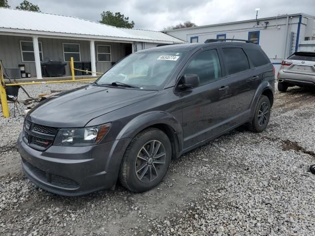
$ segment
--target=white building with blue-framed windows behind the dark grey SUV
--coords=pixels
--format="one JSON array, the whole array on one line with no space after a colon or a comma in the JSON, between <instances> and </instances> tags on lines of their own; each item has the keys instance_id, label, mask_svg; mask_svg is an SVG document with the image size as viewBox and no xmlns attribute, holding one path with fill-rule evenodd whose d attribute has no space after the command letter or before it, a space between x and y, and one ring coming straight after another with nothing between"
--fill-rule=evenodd
<instances>
[{"instance_id":1,"label":"white building with blue-framed windows behind the dark grey SUV","mask_svg":"<svg viewBox=\"0 0 315 236\"><path fill-rule=\"evenodd\" d=\"M165 33L189 43L204 42L209 38L250 39L261 46L278 70L284 58L299 51L299 44L305 45L308 43L305 40L315 40L315 17L304 13L285 14L257 21L173 29Z\"/></svg>"}]
</instances>

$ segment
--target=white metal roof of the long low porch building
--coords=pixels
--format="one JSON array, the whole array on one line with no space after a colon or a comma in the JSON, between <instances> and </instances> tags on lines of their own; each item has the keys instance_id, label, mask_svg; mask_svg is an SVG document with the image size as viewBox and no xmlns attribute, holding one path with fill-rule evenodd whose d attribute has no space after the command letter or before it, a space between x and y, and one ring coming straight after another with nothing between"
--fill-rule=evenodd
<instances>
[{"instance_id":1,"label":"white metal roof of the long low porch building","mask_svg":"<svg viewBox=\"0 0 315 236\"><path fill-rule=\"evenodd\" d=\"M0 32L121 41L184 43L162 32L125 29L72 16L0 7Z\"/></svg>"}]
</instances>

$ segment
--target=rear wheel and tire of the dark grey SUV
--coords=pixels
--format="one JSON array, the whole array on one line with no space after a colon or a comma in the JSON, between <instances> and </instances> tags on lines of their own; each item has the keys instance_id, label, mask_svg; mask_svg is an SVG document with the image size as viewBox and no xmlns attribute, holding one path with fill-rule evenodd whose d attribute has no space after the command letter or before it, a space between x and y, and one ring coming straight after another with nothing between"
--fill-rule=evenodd
<instances>
[{"instance_id":1,"label":"rear wheel and tire of the dark grey SUV","mask_svg":"<svg viewBox=\"0 0 315 236\"><path fill-rule=\"evenodd\" d=\"M254 118L252 119L252 131L260 133L266 129L270 118L270 109L269 98L265 95L261 95L255 109Z\"/></svg>"}]
</instances>

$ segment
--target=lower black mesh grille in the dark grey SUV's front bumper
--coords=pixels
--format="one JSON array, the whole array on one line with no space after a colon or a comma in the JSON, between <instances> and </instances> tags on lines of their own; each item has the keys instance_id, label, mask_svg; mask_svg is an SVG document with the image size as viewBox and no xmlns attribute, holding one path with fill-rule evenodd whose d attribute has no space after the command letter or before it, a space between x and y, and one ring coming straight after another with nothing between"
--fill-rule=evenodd
<instances>
[{"instance_id":1,"label":"lower black mesh grille in the dark grey SUV's front bumper","mask_svg":"<svg viewBox=\"0 0 315 236\"><path fill-rule=\"evenodd\" d=\"M50 174L48 172L40 170L39 168L33 166L30 162L27 162L24 159L23 159L23 162L24 162L24 165L26 165L37 178L39 178L40 180L44 182L50 183L58 187L71 188L71 189L76 189L80 186L79 183L77 183L73 179L61 177L61 176Z\"/></svg>"}]
</instances>

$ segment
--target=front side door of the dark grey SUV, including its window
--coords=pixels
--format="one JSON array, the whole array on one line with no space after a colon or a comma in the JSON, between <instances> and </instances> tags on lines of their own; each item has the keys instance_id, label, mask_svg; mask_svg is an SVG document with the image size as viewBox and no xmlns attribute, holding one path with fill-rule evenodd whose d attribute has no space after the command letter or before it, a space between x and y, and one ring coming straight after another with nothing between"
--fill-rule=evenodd
<instances>
[{"instance_id":1,"label":"front side door of the dark grey SUV, including its window","mask_svg":"<svg viewBox=\"0 0 315 236\"><path fill-rule=\"evenodd\" d=\"M177 90L182 100L184 147L188 148L227 128L229 79L216 47L195 53L180 74L197 74L200 84Z\"/></svg>"}]
</instances>

